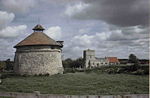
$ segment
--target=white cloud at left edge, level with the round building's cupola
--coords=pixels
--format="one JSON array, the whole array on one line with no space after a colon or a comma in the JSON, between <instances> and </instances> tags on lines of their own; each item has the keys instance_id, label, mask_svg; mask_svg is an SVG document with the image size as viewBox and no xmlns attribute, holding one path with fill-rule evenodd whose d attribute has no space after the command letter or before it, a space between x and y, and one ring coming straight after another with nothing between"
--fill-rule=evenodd
<instances>
[{"instance_id":1,"label":"white cloud at left edge, level with the round building's cupola","mask_svg":"<svg viewBox=\"0 0 150 98\"><path fill-rule=\"evenodd\" d=\"M7 26L0 31L0 38L16 38L20 34L24 33L26 29L26 25Z\"/></svg>"}]
</instances>

